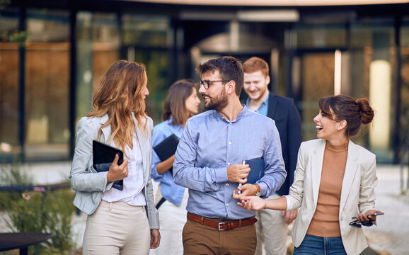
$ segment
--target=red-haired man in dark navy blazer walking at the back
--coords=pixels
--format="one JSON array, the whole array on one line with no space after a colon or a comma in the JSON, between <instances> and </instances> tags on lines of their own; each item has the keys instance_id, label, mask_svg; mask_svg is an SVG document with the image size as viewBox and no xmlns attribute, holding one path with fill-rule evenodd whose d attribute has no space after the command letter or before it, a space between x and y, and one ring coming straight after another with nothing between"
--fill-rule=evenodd
<instances>
[{"instance_id":1,"label":"red-haired man in dark navy blazer walking at the back","mask_svg":"<svg viewBox=\"0 0 409 255\"><path fill-rule=\"evenodd\" d=\"M248 94L246 105L250 110L275 120L282 146L287 179L277 193L269 198L280 198L289 193L294 181L296 159L301 144L301 118L291 98L277 96L268 91L270 83L269 67L265 60L251 57L243 63L244 86ZM287 254L287 230L297 215L294 211L260 210L256 217L257 249L255 254L262 254L263 242L265 254ZM287 225L286 225L287 224Z\"/></svg>"}]
</instances>

